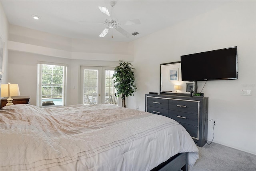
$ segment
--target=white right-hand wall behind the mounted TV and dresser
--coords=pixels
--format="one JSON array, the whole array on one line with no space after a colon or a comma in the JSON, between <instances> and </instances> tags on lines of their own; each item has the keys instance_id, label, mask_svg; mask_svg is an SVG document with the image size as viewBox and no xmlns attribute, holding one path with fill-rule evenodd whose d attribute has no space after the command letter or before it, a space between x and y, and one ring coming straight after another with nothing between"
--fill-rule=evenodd
<instances>
[{"instance_id":1,"label":"white right-hand wall behind the mounted TV and dresser","mask_svg":"<svg viewBox=\"0 0 256 171\"><path fill-rule=\"evenodd\" d=\"M208 81L208 117L216 121L214 142L256 154L256 22L255 1L229 1L226 6L180 22L134 41L138 90L127 106L144 110L145 93L159 92L159 64L181 55L238 46L238 80ZM198 82L200 91L205 82ZM252 89L251 96L240 89ZM212 122L208 140L212 140Z\"/></svg>"}]
</instances>

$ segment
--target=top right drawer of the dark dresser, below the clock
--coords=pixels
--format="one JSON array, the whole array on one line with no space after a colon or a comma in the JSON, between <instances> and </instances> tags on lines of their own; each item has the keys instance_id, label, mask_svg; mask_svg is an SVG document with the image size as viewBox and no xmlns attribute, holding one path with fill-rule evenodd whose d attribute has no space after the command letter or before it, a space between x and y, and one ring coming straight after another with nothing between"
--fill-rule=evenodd
<instances>
[{"instance_id":1,"label":"top right drawer of the dark dresser, below the clock","mask_svg":"<svg viewBox=\"0 0 256 171\"><path fill-rule=\"evenodd\" d=\"M198 114L198 102L169 100L169 109L186 113Z\"/></svg>"}]
</instances>

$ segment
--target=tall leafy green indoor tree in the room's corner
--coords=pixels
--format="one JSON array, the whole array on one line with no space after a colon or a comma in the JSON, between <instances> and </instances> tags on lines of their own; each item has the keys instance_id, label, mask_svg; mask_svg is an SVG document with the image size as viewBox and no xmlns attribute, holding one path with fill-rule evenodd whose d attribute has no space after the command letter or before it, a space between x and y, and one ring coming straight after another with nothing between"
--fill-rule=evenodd
<instances>
[{"instance_id":1,"label":"tall leafy green indoor tree in the room's corner","mask_svg":"<svg viewBox=\"0 0 256 171\"><path fill-rule=\"evenodd\" d=\"M122 106L126 107L125 97L134 95L133 93L136 91L137 87L134 84L134 68L132 68L132 64L128 62L124 62L123 60L119 61L119 66L114 69L113 79L114 79L114 87L116 88L115 95L119 97L121 95L122 98Z\"/></svg>"}]
</instances>

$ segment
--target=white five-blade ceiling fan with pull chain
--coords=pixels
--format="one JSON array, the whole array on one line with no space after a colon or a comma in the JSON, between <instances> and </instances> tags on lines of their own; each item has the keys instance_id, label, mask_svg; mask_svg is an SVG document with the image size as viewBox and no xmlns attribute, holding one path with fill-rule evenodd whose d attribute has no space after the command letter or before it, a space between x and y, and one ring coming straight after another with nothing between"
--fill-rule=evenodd
<instances>
[{"instance_id":1,"label":"white five-blade ceiling fan with pull chain","mask_svg":"<svg viewBox=\"0 0 256 171\"><path fill-rule=\"evenodd\" d=\"M121 23L122 25L134 25L134 24L140 24L140 20L138 19L134 19L134 20L128 20L128 21L122 21L119 22L118 20L114 20L112 18L112 10L113 7L115 6L115 2L110 2L110 6L111 6L111 14L108 11L108 8L104 7L104 6L99 6L99 9L101 12L103 12L104 14L106 14L107 16L110 16L110 20L106 19L102 24L106 25L107 27L101 32L101 34L99 35L99 37L104 38L106 36L106 34L108 34L110 29L115 28L116 31L120 32L122 35L126 36L127 38L130 37L130 33L128 33L126 30L124 30L123 28L120 27ZM112 35L112 38L114 36Z\"/></svg>"}]
</instances>

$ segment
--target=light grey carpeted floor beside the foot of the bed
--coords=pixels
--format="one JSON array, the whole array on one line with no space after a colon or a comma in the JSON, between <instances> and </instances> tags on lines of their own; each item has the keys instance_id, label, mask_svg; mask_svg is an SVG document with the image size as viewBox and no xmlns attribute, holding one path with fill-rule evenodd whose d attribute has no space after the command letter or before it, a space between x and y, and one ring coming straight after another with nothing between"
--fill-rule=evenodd
<instances>
[{"instance_id":1,"label":"light grey carpeted floor beside the foot of the bed","mask_svg":"<svg viewBox=\"0 0 256 171\"><path fill-rule=\"evenodd\" d=\"M217 143L198 149L199 159L188 171L256 171L256 155Z\"/></svg>"}]
</instances>

